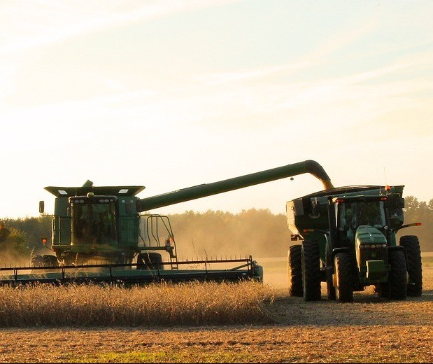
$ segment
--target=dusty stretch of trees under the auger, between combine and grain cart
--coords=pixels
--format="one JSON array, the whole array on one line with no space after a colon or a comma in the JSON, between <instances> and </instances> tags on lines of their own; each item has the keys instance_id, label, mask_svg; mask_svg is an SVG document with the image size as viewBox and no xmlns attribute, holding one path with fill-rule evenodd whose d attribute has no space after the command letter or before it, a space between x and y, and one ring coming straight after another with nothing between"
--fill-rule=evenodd
<instances>
[{"instance_id":1,"label":"dusty stretch of trees under the auger, between combine and grain cart","mask_svg":"<svg viewBox=\"0 0 433 364\"><path fill-rule=\"evenodd\" d=\"M285 216L268 209L185 211L169 217L178 254L186 258L278 257L290 245Z\"/></svg>"}]
</instances>

